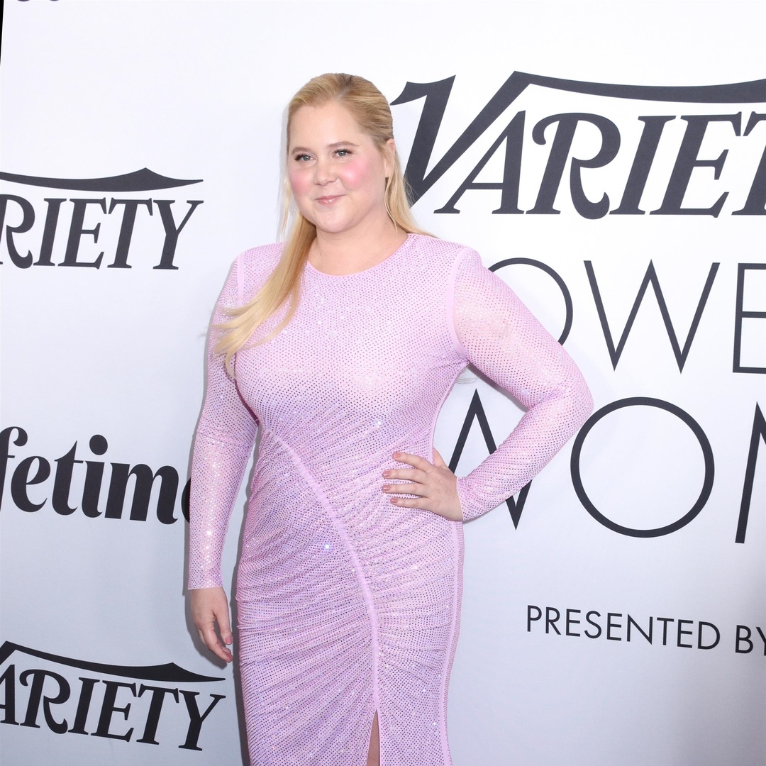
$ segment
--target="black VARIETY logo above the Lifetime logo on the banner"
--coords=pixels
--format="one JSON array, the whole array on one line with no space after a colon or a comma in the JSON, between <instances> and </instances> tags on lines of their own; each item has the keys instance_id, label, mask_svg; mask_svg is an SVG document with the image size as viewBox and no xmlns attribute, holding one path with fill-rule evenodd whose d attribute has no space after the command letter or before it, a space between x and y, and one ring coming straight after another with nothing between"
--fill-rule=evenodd
<instances>
[{"instance_id":1,"label":"black VARIETY logo above the Lifetime logo on the banner","mask_svg":"<svg viewBox=\"0 0 766 766\"><path fill-rule=\"evenodd\" d=\"M41 178L0 172L0 180L18 185L91 192L87 197L49 196L42 201L31 201L21 195L0 195L0 231L4 231L3 239L11 264L20 269L31 266L100 269L103 264L107 269L132 268L128 259L136 221L139 221L142 236L154 241L158 227L148 218L156 220L156 211L162 227L162 247L156 247L159 260L152 268L178 270L174 263L178 236L188 224L191 214L202 204L201 199L186 200L184 209L184 203L172 199L136 196L136 192L159 191L201 182L201 179L185 181L165 178L146 168L109 178ZM107 199L106 196L93 195L93 192L105 191L119 196ZM128 193L132 196L124 196ZM66 214L62 215L64 212ZM38 223L40 221L41 224ZM106 230L103 237L102 224ZM108 241L109 245L97 253L99 237L102 241ZM144 250L145 246L142 247ZM58 262L54 263L54 260Z\"/></svg>"}]
</instances>

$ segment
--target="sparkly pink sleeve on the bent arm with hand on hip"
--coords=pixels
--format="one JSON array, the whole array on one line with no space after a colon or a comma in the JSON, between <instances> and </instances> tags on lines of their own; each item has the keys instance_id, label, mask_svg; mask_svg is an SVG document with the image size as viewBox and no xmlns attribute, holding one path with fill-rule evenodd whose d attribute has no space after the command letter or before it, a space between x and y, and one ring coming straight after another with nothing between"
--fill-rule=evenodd
<instances>
[{"instance_id":1,"label":"sparkly pink sleeve on the bent arm with hand on hip","mask_svg":"<svg viewBox=\"0 0 766 766\"><path fill-rule=\"evenodd\" d=\"M526 408L497 450L457 480L469 521L529 483L581 427L593 401L568 353L473 250L457 264L453 321L466 361Z\"/></svg>"}]
</instances>

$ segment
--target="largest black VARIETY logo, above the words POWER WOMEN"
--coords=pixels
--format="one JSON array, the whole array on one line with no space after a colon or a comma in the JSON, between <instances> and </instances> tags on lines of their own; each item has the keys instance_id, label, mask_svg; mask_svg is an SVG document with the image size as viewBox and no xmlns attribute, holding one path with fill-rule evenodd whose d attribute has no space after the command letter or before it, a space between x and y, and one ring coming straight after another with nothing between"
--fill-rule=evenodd
<instances>
[{"instance_id":1,"label":"largest black VARIETY logo, above the words POWER WOMEN","mask_svg":"<svg viewBox=\"0 0 766 766\"><path fill-rule=\"evenodd\" d=\"M463 178L448 182L447 188L452 191L437 202L440 207L434 210L436 213L460 213L457 205L467 192L492 191L490 200L499 197L499 206L492 210L496 214L558 215L561 210L556 205L563 208L565 203L583 218L603 218L607 213L643 215L649 206L653 207L648 210L652 215L717 217L725 209L732 215L766 214L766 114L721 109L711 113L709 108L712 104L766 103L766 80L653 87L514 72L447 152L440 159L434 158L454 80L449 77L434 83L408 82L391 102L395 105L424 100L406 171L413 201L423 197L453 166L457 167L458 177ZM530 88L535 95L528 104L520 97ZM614 119L584 111L535 117L528 114L528 109L538 109L546 96L555 93L599 97L598 103L603 103L603 110ZM513 113L506 123L506 110L516 105L517 99L528 108ZM615 100L623 105L617 106ZM699 104L702 113L655 113L667 112L665 108L652 113L636 111L628 116L626 101L642 102L641 110L649 108L647 102ZM528 123L532 119L530 136ZM707 154L711 142L715 146L713 156ZM548 149L535 148L546 144ZM724 171L729 152L737 155L733 162L751 165L748 188L724 189L715 183ZM629 155L627 161L625 154ZM620 168L617 172L615 166ZM568 199L562 188L567 185L562 183L567 169ZM440 186L437 196L443 188ZM594 194L595 188L599 194ZM695 204L696 199L707 202Z\"/></svg>"}]
</instances>

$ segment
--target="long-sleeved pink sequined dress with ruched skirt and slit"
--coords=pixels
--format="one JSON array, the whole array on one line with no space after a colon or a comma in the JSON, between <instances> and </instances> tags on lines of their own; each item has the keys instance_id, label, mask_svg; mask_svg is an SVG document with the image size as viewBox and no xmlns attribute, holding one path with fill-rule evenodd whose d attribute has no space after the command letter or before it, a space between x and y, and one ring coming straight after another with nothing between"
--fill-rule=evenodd
<instances>
[{"instance_id":1,"label":"long-sleeved pink sequined dress with ruched skirt and slit","mask_svg":"<svg viewBox=\"0 0 766 766\"><path fill-rule=\"evenodd\" d=\"M280 245L247 250L221 293L250 300ZM529 482L588 416L564 349L478 255L410 234L387 260L330 276L307 264L273 339L209 356L191 483L190 588L221 584L228 518L257 430L237 571L239 657L254 766L447 766L447 686L460 624L463 529L398 508L381 472L432 459L434 424L470 362L528 408L458 480L464 519ZM282 314L259 332L269 332Z\"/></svg>"}]
</instances>

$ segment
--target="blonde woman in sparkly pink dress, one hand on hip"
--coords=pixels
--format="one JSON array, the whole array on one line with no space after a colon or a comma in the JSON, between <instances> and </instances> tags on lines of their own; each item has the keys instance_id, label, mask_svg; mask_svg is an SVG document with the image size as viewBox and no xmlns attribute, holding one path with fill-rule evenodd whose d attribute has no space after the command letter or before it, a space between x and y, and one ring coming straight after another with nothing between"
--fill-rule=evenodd
<instances>
[{"instance_id":1,"label":"blonde woman in sparkly pink dress, one hand on hip","mask_svg":"<svg viewBox=\"0 0 766 766\"><path fill-rule=\"evenodd\" d=\"M307 83L290 103L286 162L290 236L237 259L214 314L192 615L231 660L221 547L260 427L237 571L252 762L444 766L462 522L528 483L590 395L473 250L417 230L372 83ZM469 362L528 411L457 479L432 440Z\"/></svg>"}]
</instances>

